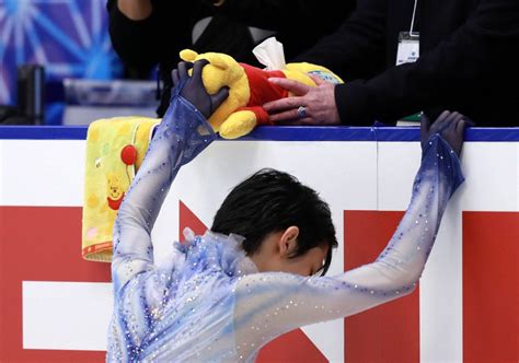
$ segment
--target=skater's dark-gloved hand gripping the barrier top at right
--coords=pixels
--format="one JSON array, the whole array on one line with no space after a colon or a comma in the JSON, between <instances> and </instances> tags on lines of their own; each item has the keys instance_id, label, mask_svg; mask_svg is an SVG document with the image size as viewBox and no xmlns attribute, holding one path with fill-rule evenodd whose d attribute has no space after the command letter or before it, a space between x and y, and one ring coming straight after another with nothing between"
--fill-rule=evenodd
<instances>
[{"instance_id":1,"label":"skater's dark-gloved hand gripping the barrier top at right","mask_svg":"<svg viewBox=\"0 0 519 363\"><path fill-rule=\"evenodd\" d=\"M429 118L425 114L422 114L422 150L425 150L427 142L434 134L439 133L443 140L449 143L452 150L454 150L455 154L460 156L461 147L463 145L463 132L466 125L472 125L472 121L455 112L442 112L432 125L430 125Z\"/></svg>"}]
</instances>

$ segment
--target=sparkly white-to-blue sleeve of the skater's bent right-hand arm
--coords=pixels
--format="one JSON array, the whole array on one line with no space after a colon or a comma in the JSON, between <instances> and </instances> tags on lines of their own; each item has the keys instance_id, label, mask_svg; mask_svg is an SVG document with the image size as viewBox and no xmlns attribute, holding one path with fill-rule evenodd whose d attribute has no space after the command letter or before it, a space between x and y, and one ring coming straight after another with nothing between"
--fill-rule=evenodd
<instances>
[{"instance_id":1,"label":"sparkly white-to-blue sleeve of the skater's bent right-hand arm","mask_svg":"<svg viewBox=\"0 0 519 363\"><path fill-rule=\"evenodd\" d=\"M408 209L376 261L336 277L270 272L241 278L234 313L241 351L291 329L349 316L411 293L447 202L462 182L458 156L436 134L424 152Z\"/></svg>"}]
</instances>

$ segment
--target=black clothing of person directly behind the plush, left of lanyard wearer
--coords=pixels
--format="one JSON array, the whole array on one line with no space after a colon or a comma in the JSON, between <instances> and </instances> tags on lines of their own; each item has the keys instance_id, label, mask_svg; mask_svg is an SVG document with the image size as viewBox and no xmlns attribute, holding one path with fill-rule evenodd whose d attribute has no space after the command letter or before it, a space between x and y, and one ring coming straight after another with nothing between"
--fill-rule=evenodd
<instances>
[{"instance_id":1,"label":"black clothing of person directly behind the plush, left of lanyard wearer","mask_svg":"<svg viewBox=\"0 0 519 363\"><path fill-rule=\"evenodd\" d=\"M215 8L211 0L151 1L152 14L142 21L126 17L118 10L117 0L108 0L107 10L112 44L131 73L148 74L159 63L164 83L159 116L169 105L170 73L180 61L180 50L219 51L238 61L260 66L252 54L255 44L249 31L249 26L256 26L276 31L276 37L284 43L285 54L290 59L335 31L355 7L355 0L227 0L219 8ZM323 1L332 15L315 17L315 10L321 9ZM314 26L295 27L286 21L289 15L301 24L312 22ZM193 44L193 26L206 16L214 17Z\"/></svg>"}]
</instances>

